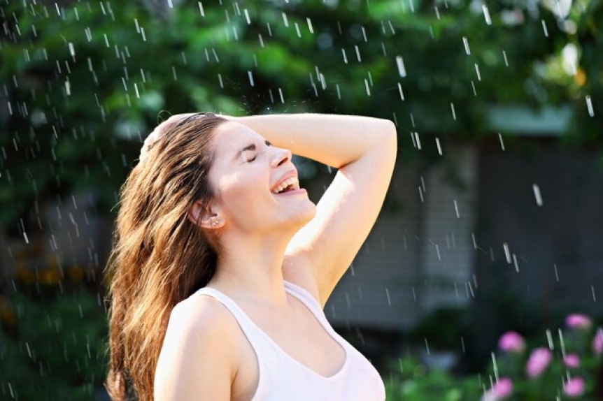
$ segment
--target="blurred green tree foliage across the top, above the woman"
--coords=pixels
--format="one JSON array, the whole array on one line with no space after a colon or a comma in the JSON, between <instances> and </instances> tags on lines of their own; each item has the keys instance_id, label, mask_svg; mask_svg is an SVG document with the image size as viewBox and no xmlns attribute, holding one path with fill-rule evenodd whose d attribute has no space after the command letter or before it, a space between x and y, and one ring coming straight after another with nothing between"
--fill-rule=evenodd
<instances>
[{"instance_id":1,"label":"blurred green tree foliage across the top, above the woman","mask_svg":"<svg viewBox=\"0 0 603 401\"><path fill-rule=\"evenodd\" d=\"M509 0L3 1L0 223L82 188L114 205L161 110L386 117L409 156L411 132L444 147L488 140L492 105L569 104L566 138L597 143L603 3L560 11Z\"/></svg>"}]
</instances>

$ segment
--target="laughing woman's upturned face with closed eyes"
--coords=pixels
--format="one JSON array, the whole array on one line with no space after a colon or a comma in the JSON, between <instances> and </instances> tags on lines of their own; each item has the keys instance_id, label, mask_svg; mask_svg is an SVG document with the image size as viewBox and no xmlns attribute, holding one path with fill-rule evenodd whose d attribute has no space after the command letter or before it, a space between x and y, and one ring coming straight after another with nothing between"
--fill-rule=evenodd
<instances>
[{"instance_id":1,"label":"laughing woman's upturned face with closed eyes","mask_svg":"<svg viewBox=\"0 0 603 401\"><path fill-rule=\"evenodd\" d=\"M225 228L246 234L297 231L314 217L315 205L299 189L289 150L236 122L215 129L213 146L210 180L220 194L215 205Z\"/></svg>"}]
</instances>

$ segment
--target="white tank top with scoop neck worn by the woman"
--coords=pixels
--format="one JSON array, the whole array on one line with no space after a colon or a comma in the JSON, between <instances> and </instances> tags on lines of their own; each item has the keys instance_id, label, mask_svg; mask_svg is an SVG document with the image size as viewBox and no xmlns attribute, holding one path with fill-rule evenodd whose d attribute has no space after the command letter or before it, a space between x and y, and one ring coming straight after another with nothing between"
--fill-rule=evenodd
<instances>
[{"instance_id":1,"label":"white tank top with scoop neck worn by the woman","mask_svg":"<svg viewBox=\"0 0 603 401\"><path fill-rule=\"evenodd\" d=\"M315 298L290 282L285 282L285 291L302 301L327 333L346 351L346 360L339 372L330 377L314 372L278 347L224 293L210 288L197 291L197 294L211 296L222 302L253 347L260 379L252 401L384 401L385 387L376 369L362 353L333 330Z\"/></svg>"}]
</instances>

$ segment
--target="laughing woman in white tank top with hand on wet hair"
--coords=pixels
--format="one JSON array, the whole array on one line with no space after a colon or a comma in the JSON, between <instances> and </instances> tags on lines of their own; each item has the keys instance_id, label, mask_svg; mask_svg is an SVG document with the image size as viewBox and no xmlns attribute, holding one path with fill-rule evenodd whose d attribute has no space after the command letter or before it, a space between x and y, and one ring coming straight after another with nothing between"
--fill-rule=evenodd
<instances>
[{"instance_id":1,"label":"laughing woman in white tank top with hand on wet hair","mask_svg":"<svg viewBox=\"0 0 603 401\"><path fill-rule=\"evenodd\" d=\"M318 205L291 152L339 168ZM322 308L376 220L395 156L384 119L197 113L159 124L121 191L113 400L127 388L141 401L385 400Z\"/></svg>"}]
</instances>

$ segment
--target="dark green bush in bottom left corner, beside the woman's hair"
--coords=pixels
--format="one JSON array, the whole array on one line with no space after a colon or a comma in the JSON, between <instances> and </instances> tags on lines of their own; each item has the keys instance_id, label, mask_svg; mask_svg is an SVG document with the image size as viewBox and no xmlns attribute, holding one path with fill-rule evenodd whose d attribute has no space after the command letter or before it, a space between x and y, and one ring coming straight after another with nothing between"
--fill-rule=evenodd
<instances>
[{"instance_id":1,"label":"dark green bush in bottom left corner, beside the woman's hair","mask_svg":"<svg viewBox=\"0 0 603 401\"><path fill-rule=\"evenodd\" d=\"M106 376L106 311L100 295L69 287L38 283L0 305L2 400L95 399Z\"/></svg>"}]
</instances>

